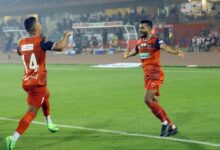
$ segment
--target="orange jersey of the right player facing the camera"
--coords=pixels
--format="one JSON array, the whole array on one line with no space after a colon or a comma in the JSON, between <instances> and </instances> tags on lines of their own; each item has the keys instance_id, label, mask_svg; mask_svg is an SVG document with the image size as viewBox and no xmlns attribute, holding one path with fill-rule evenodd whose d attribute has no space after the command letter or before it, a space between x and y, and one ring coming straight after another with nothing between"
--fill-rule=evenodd
<instances>
[{"instance_id":1,"label":"orange jersey of the right player facing the camera","mask_svg":"<svg viewBox=\"0 0 220 150\"><path fill-rule=\"evenodd\" d=\"M136 51L140 55L145 80L164 79L164 73L160 64L160 40L158 37L151 37L149 40L140 39L137 42Z\"/></svg>"}]
</instances>

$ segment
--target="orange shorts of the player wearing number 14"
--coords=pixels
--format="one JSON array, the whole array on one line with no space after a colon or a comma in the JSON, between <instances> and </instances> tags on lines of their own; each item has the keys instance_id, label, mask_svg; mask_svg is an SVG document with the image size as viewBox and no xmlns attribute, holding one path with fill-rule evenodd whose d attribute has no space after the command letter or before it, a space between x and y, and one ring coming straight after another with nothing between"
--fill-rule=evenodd
<instances>
[{"instance_id":1,"label":"orange shorts of the player wearing number 14","mask_svg":"<svg viewBox=\"0 0 220 150\"><path fill-rule=\"evenodd\" d=\"M27 92L27 103L29 105L40 108L49 91L46 86L39 85L23 85L23 89Z\"/></svg>"}]
</instances>

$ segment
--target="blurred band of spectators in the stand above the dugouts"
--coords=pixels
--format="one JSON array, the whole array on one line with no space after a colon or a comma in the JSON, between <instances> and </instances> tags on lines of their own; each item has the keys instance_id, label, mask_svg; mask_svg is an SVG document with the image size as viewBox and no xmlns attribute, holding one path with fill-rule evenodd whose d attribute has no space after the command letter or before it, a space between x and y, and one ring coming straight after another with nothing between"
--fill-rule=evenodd
<instances>
[{"instance_id":1,"label":"blurred band of spectators in the stand above the dugouts","mask_svg":"<svg viewBox=\"0 0 220 150\"><path fill-rule=\"evenodd\" d=\"M62 32L65 29L71 29L72 23L93 23L93 22L109 22L109 21L123 21L124 24L138 25L138 22L142 19L150 19L153 22L183 22L191 20L206 20L210 18L220 19L220 12L216 10L213 6L213 11L207 13L206 11L200 11L197 13L184 13L181 12L179 7L173 6L169 10L160 9L158 13L147 13L145 9L137 12L136 9L131 9L131 11L122 14L121 12L114 13L113 15L106 15L104 12L94 12L81 14L74 19L70 17L65 17L62 21L57 22L57 30ZM23 27L24 18L19 19L8 19L3 22L1 26L19 26Z\"/></svg>"}]
</instances>

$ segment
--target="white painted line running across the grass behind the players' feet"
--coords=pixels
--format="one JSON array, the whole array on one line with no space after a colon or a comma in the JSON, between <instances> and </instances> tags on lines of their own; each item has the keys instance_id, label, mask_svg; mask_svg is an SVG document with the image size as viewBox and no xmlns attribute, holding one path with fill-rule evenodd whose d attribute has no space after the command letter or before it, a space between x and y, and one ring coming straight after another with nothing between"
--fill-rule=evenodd
<instances>
[{"instance_id":1,"label":"white painted line running across the grass behind the players' feet","mask_svg":"<svg viewBox=\"0 0 220 150\"><path fill-rule=\"evenodd\" d=\"M3 121L13 121L13 122L18 122L19 121L17 119L10 119L10 118L5 118L5 117L0 117L0 120L3 120ZM33 121L32 124L45 125L45 123L37 122L37 121ZM188 139L180 139L180 138L173 138L173 137L160 137L160 136L149 135L149 134L129 133L129 132L125 132L125 131L95 129L95 128L87 128L87 127L72 126L72 125L61 125L61 124L57 124L57 127L68 128L68 129L79 129L79 130L101 132L101 133L118 134L118 135L123 135L123 136L130 136L130 137L143 137L143 138L150 138L150 139L176 141L176 142L181 142L181 143L206 145L206 146L211 146L211 147L220 147L220 144L218 144L218 143L211 143L211 142L206 142L206 141L188 140Z\"/></svg>"}]
</instances>

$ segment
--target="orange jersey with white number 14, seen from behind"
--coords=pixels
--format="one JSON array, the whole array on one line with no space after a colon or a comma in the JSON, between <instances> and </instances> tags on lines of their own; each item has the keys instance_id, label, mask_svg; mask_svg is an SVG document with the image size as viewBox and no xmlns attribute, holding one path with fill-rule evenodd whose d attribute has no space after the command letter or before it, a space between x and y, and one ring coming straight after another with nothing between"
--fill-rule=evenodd
<instances>
[{"instance_id":1,"label":"orange jersey with white number 14, seen from behind","mask_svg":"<svg viewBox=\"0 0 220 150\"><path fill-rule=\"evenodd\" d=\"M23 85L47 84L46 48L44 45L45 42L41 36L25 38L19 42L18 53L21 55L25 66Z\"/></svg>"}]
</instances>

